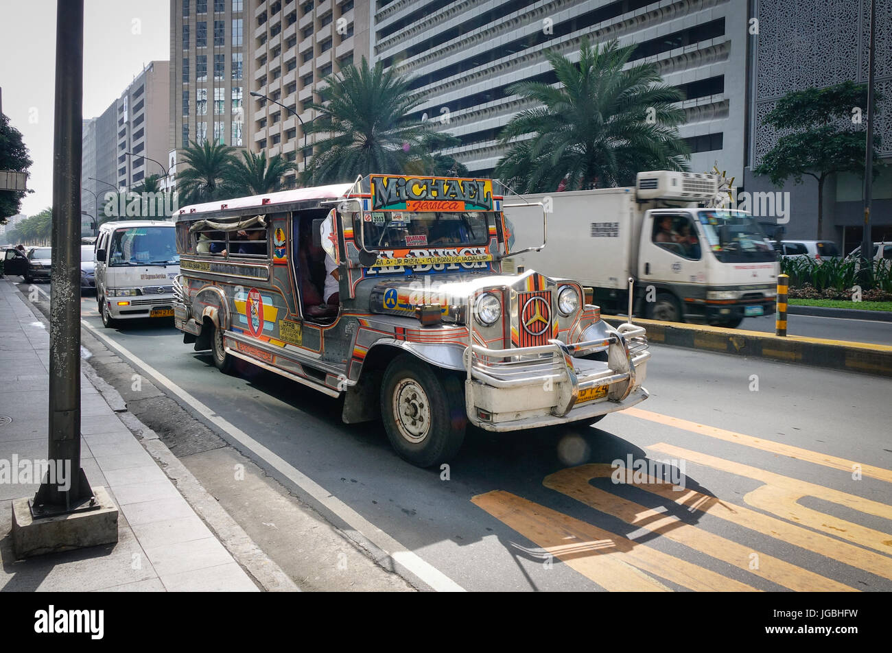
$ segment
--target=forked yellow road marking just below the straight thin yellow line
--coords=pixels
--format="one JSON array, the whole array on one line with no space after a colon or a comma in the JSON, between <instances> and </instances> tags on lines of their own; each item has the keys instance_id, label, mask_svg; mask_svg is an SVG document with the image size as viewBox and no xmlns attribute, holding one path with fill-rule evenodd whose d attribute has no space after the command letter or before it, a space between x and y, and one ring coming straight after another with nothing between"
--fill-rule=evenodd
<instances>
[{"instance_id":1,"label":"forked yellow road marking just below the straight thin yellow line","mask_svg":"<svg viewBox=\"0 0 892 653\"><path fill-rule=\"evenodd\" d=\"M789 478L789 476L781 476L780 474L774 474L773 472L767 472L763 469L732 462L731 460L715 458L698 451L681 449L681 447L665 444L665 442L655 444L652 447L648 447L648 449L661 451L670 456L685 459L688 462L713 467L714 469L720 469L739 476L747 476L748 478L756 479L756 481L762 481L764 484L772 485L777 490L760 492L761 488L759 488L754 492L749 492L744 497L744 500L755 508L762 508L779 517L809 525L824 533L836 535L844 540L854 541L856 544L861 544L874 550L892 553L892 534L856 525L845 519L832 517L816 510L803 508L796 501L806 496L815 497L816 499L830 501L840 506L885 519L892 519L892 506L887 506L884 503L880 503L880 501L864 499L848 492L833 490L822 485L799 481L795 478Z\"/></svg>"}]
</instances>

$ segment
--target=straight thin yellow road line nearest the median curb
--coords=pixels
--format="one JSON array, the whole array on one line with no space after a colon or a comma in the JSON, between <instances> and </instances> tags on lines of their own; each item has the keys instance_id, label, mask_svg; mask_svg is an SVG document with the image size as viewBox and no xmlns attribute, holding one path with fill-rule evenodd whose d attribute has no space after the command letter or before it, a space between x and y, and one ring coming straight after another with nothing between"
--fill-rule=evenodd
<instances>
[{"instance_id":1,"label":"straight thin yellow road line nearest the median curb","mask_svg":"<svg viewBox=\"0 0 892 653\"><path fill-rule=\"evenodd\" d=\"M691 433L696 433L700 435L708 435L709 437L715 438L717 440L723 440L725 442L736 442L737 444L743 444L747 447L753 447L754 449L761 449L763 451L769 451L771 453L779 453L782 456L789 456L790 458L805 460L806 462L811 462L816 465L823 465L825 467L833 467L834 469L841 469L843 471L847 471L851 473L856 465L861 467L861 473L864 476L870 476L871 478L877 478L880 481L886 481L887 483L892 483L892 471L888 469L884 469L883 467L873 467L872 465L863 465L862 463L855 462L855 460L848 460L844 458L838 458L836 456L830 456L824 453L818 453L817 451L811 451L807 449L801 449L799 447L794 447L790 444L782 444L781 442L772 442L771 440L763 440L761 438L753 437L752 435L746 435L742 433L736 433L734 431L726 431L723 428L716 428L715 426L706 426L705 424L698 424L697 422L690 422L687 419L681 419L679 417L670 417L668 415L661 415L660 413L655 413L650 410L643 410L639 408L630 408L625 409L619 415L631 415L632 417L640 417L640 419L647 419L651 422L657 422L657 424L665 424L665 426L674 426L675 428L681 428L685 431L690 431Z\"/></svg>"}]
</instances>

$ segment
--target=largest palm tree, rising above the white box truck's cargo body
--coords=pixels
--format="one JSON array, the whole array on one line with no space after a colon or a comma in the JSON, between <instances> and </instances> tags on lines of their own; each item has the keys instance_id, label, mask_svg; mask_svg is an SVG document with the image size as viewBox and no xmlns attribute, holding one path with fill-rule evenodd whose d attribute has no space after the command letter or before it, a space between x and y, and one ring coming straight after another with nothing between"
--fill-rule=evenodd
<instances>
[{"instance_id":1,"label":"largest palm tree, rising above the white box truck's cargo body","mask_svg":"<svg viewBox=\"0 0 892 653\"><path fill-rule=\"evenodd\" d=\"M500 134L514 140L496 174L521 192L631 186L640 170L685 170L690 149L678 136L681 93L651 63L624 69L634 45L592 47L582 39L579 62L546 57L559 86L525 81L508 88L540 104L518 113ZM516 140L516 139L520 140Z\"/></svg>"}]
</instances>

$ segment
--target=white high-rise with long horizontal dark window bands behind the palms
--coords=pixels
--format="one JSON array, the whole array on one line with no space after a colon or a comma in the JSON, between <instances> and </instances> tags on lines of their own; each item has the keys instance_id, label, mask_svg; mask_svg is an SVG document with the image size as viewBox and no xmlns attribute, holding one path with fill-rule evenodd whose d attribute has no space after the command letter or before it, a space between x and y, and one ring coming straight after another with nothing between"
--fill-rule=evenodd
<instances>
[{"instance_id":1,"label":"white high-rise with long horizontal dark window bands behind the palms","mask_svg":"<svg viewBox=\"0 0 892 653\"><path fill-rule=\"evenodd\" d=\"M743 0L394 0L375 10L377 61L415 78L415 112L458 136L448 151L475 175L507 148L498 135L532 106L508 93L524 80L557 81L547 50L578 59L582 37L635 45L685 99L690 169L742 178L745 161L747 3ZM448 118L447 118L448 117ZM448 122L447 122L448 120Z\"/></svg>"}]
</instances>

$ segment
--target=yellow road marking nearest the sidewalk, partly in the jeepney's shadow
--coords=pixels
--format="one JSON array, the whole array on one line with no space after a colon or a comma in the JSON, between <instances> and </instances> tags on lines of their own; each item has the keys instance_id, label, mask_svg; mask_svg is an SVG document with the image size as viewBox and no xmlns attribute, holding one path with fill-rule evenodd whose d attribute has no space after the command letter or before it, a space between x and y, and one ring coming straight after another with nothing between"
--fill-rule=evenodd
<instances>
[{"instance_id":1,"label":"yellow road marking nearest the sidewalk, partly in the jeepney's shadow","mask_svg":"<svg viewBox=\"0 0 892 653\"><path fill-rule=\"evenodd\" d=\"M694 591L756 591L510 492L487 492L471 501L609 591L669 591L645 572Z\"/></svg>"}]
</instances>

